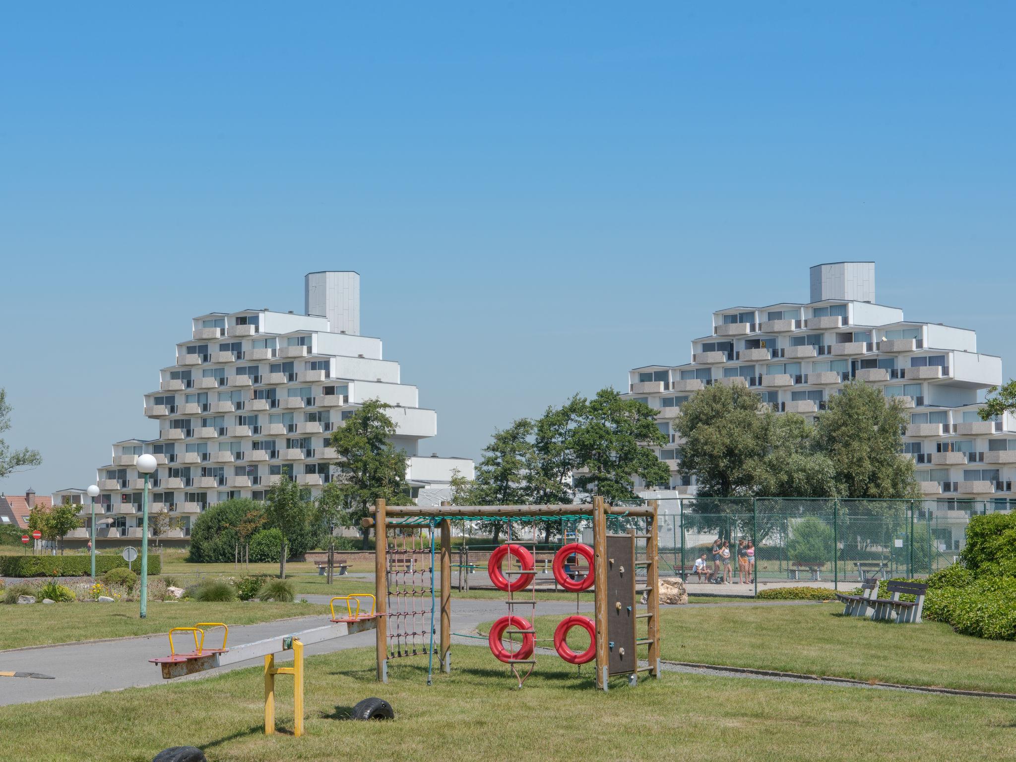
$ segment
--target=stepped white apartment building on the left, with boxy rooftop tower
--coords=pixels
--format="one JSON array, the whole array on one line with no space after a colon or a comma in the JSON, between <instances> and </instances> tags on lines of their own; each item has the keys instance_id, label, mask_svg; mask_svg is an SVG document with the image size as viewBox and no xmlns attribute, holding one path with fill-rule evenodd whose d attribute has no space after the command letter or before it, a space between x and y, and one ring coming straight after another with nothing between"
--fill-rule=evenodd
<instances>
[{"instance_id":1,"label":"stepped white apartment building on the left, with boxy rooftop tower","mask_svg":"<svg viewBox=\"0 0 1016 762\"><path fill-rule=\"evenodd\" d=\"M141 536L143 481L135 463L142 453L158 462L150 514L181 519L164 539L186 542L209 505L261 500L283 474L320 493L333 478L331 432L368 399L392 405L392 443L408 455L415 498L449 499L455 469L473 478L468 458L420 453L421 441L437 434L437 414L420 406L418 388L382 357L381 339L360 335L358 273L307 274L305 312L213 312L191 321L173 364L158 372L158 388L144 394L157 436L114 443L111 462L98 469L98 536ZM89 533L90 505L81 502L85 528L73 532L76 539Z\"/></svg>"}]
</instances>

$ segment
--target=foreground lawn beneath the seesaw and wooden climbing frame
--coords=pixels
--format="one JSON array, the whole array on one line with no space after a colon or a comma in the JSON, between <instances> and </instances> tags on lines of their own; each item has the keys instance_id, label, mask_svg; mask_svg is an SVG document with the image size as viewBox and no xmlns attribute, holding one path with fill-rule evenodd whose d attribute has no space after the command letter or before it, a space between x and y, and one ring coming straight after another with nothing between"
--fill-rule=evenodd
<instances>
[{"instance_id":1,"label":"foreground lawn beneath the seesaw and wooden climbing frame","mask_svg":"<svg viewBox=\"0 0 1016 762\"><path fill-rule=\"evenodd\" d=\"M643 680L637 688L615 681L605 694L592 688L590 670L576 676L553 657L542 657L518 691L484 647L457 647L453 663L452 675L437 673L428 688L423 658L392 663L389 684L379 685L370 649L311 657L306 735L300 739L288 735L293 694L285 677L276 682L280 733L263 735L260 668L3 707L0 758L77 762L89 758L82 744L101 741L103 759L138 762L184 744L203 748L210 762L714 762L718 756L997 762L1008 758L1016 737L1013 704L1001 700L674 674ZM395 721L340 719L368 696L391 702ZM111 717L136 716L142 706L169 713L117 733L103 729Z\"/></svg>"}]
</instances>

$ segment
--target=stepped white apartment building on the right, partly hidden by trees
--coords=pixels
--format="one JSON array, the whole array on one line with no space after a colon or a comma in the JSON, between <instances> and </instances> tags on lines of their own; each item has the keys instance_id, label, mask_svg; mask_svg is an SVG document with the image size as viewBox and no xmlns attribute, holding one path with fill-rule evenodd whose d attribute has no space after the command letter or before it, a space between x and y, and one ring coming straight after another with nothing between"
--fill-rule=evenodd
<instances>
[{"instance_id":1,"label":"stepped white apartment building on the right, partly hidden by trees","mask_svg":"<svg viewBox=\"0 0 1016 762\"><path fill-rule=\"evenodd\" d=\"M807 304L718 310L709 334L692 341L692 362L629 372L627 396L658 410L670 439L659 458L671 466L671 489L652 496L695 494L677 473L681 441L671 422L699 389L741 384L778 412L814 418L844 381L858 378L907 408L905 454L933 508L962 507L963 500L1011 507L1016 421L977 415L985 389L1002 383L1001 358L978 353L973 330L906 320L902 309L878 304L874 262L820 264L810 275Z\"/></svg>"}]
</instances>

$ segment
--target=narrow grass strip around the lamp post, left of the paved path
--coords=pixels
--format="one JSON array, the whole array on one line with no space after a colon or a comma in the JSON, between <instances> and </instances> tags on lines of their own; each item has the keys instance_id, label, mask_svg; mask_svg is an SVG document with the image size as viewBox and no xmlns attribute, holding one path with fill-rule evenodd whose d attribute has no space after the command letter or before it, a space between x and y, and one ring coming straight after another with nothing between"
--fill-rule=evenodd
<instances>
[{"instance_id":1,"label":"narrow grass strip around the lamp post, left of the paved path","mask_svg":"<svg viewBox=\"0 0 1016 762\"><path fill-rule=\"evenodd\" d=\"M327 611L328 607L314 604L152 601L148 604L147 617L139 619L137 602L0 605L0 650L150 635L169 632L171 627L207 622L209 618L228 625L252 625Z\"/></svg>"}]
</instances>

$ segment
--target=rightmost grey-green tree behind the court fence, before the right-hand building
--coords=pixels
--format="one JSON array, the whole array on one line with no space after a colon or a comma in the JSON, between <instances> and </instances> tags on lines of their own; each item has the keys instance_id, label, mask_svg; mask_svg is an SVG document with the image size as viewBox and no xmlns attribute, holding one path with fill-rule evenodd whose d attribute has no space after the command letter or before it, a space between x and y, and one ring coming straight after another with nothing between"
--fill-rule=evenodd
<instances>
[{"instance_id":1,"label":"rightmost grey-green tree behind the court fence, before the right-hand building","mask_svg":"<svg viewBox=\"0 0 1016 762\"><path fill-rule=\"evenodd\" d=\"M840 497L920 497L913 461L899 455L906 424L899 400L863 381L843 384L829 399L816 423L816 446L832 462Z\"/></svg>"}]
</instances>

